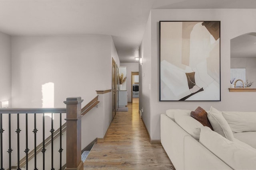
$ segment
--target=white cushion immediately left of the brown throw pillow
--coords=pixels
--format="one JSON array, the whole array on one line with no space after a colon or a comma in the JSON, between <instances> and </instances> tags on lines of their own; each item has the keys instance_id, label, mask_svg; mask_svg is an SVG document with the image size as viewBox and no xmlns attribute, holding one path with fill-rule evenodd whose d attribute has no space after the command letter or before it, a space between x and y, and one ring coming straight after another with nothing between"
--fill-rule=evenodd
<instances>
[{"instance_id":1,"label":"white cushion immediately left of the brown throw pillow","mask_svg":"<svg viewBox=\"0 0 256 170\"><path fill-rule=\"evenodd\" d=\"M200 129L203 127L202 123L190 116L189 110L183 110L183 112L175 112L175 122L190 134L194 139L199 140Z\"/></svg>"}]
</instances>

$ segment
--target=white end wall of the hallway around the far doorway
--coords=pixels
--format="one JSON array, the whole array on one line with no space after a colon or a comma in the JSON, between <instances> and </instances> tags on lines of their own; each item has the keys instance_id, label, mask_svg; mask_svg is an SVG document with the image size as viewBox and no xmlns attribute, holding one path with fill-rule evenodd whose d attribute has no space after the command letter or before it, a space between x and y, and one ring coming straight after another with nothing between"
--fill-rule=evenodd
<instances>
[{"instance_id":1,"label":"white end wall of the hallway around the far doorway","mask_svg":"<svg viewBox=\"0 0 256 170\"><path fill-rule=\"evenodd\" d=\"M139 63L120 63L120 65L126 66L126 90L128 92L128 102L132 102L131 72L139 71Z\"/></svg>"}]
</instances>

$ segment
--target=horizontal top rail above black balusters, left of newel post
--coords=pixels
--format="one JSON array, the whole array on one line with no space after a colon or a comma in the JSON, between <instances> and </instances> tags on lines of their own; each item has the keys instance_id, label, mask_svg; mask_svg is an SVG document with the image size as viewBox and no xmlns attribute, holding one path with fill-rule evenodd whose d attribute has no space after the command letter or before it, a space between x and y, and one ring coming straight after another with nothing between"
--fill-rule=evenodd
<instances>
[{"instance_id":1,"label":"horizontal top rail above black balusters, left of newel post","mask_svg":"<svg viewBox=\"0 0 256 170\"><path fill-rule=\"evenodd\" d=\"M66 108L4 108L0 113L66 113Z\"/></svg>"}]
</instances>

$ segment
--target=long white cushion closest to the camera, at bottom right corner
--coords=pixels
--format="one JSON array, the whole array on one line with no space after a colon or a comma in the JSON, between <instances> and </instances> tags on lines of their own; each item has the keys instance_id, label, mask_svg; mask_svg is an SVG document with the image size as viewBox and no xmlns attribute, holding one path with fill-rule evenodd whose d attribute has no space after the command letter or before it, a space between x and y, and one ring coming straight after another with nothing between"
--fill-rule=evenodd
<instances>
[{"instance_id":1,"label":"long white cushion closest to the camera, at bottom right corner","mask_svg":"<svg viewBox=\"0 0 256 170\"><path fill-rule=\"evenodd\" d=\"M256 149L222 137L209 127L202 127L200 143L234 170L255 170Z\"/></svg>"}]
</instances>

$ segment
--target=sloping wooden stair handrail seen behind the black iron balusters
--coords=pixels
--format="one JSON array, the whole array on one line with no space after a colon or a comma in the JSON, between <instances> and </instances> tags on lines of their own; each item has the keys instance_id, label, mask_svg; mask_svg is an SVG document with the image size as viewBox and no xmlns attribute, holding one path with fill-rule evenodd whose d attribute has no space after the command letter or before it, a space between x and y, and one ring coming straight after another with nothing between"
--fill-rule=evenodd
<instances>
[{"instance_id":1,"label":"sloping wooden stair handrail seen behind the black iron balusters","mask_svg":"<svg viewBox=\"0 0 256 170\"><path fill-rule=\"evenodd\" d=\"M62 129L62 133L64 131L66 131L66 127L67 127L67 124L64 123L62 126L61 126L61 129ZM53 139L56 139L58 136L60 136L60 128L57 129L54 133L53 133ZM45 140L44 140L44 147L48 146L49 144L51 143L51 135L49 137L47 137ZM40 143L37 147L36 147L36 154L38 154L39 152L41 152L43 149L43 143ZM28 161L31 160L32 158L34 157L34 149L31 150L29 153L28 153ZM20 160L20 167L23 167L26 165L26 156L24 156L21 160Z\"/></svg>"}]
</instances>

